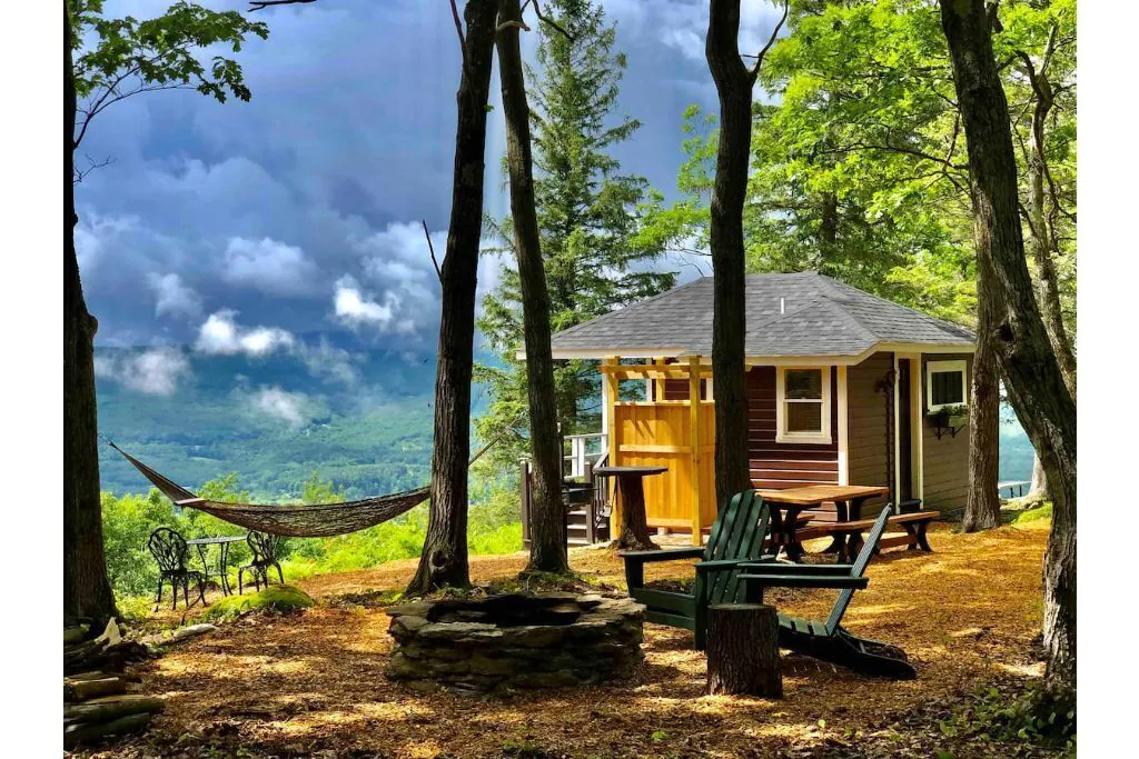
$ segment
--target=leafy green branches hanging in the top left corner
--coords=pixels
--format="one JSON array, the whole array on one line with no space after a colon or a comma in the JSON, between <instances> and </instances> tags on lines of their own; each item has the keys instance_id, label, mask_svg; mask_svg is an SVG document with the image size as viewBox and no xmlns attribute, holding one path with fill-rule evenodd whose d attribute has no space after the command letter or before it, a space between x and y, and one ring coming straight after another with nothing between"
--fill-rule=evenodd
<instances>
[{"instance_id":1,"label":"leafy green branches hanging in the top left corner","mask_svg":"<svg viewBox=\"0 0 1139 759\"><path fill-rule=\"evenodd\" d=\"M192 89L224 102L248 100L236 53L248 36L265 39L269 27L236 10L214 11L192 2L172 5L157 18L104 18L103 0L71 0L73 68L80 100L75 147L96 115L141 92Z\"/></svg>"}]
</instances>

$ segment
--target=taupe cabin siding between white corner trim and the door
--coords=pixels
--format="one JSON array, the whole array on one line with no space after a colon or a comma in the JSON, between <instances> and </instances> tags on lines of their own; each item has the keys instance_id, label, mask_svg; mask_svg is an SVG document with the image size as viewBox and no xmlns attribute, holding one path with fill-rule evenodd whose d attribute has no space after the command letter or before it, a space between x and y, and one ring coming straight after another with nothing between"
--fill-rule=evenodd
<instances>
[{"instance_id":1,"label":"taupe cabin siding between white corner trim and the door","mask_svg":"<svg viewBox=\"0 0 1139 759\"><path fill-rule=\"evenodd\" d=\"M886 463L886 403L893 395L877 383L894 368L894 354L879 352L846 370L846 468L851 485L891 485Z\"/></svg>"}]
</instances>

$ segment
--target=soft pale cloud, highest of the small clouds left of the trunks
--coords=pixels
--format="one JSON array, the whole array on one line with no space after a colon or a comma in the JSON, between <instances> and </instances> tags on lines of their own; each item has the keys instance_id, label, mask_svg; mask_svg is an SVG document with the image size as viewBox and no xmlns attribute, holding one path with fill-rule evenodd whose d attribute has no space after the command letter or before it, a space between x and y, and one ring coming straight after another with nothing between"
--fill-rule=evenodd
<instances>
[{"instance_id":1,"label":"soft pale cloud, highest of the small clouds left of the trunks","mask_svg":"<svg viewBox=\"0 0 1139 759\"><path fill-rule=\"evenodd\" d=\"M231 237L221 278L269 295L305 296L319 291L320 270L295 246L268 237Z\"/></svg>"}]
</instances>

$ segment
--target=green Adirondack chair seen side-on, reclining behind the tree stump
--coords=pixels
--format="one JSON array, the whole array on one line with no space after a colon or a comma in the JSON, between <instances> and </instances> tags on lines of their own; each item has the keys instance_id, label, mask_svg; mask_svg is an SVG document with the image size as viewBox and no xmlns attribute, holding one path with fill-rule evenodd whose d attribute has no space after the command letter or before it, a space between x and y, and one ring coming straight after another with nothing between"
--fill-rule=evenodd
<instances>
[{"instance_id":1,"label":"green Adirondack chair seen side-on, reclining behind the tree stump","mask_svg":"<svg viewBox=\"0 0 1139 759\"><path fill-rule=\"evenodd\" d=\"M779 614L779 645L798 653L829 661L865 675L913 679L917 670L898 646L851 635L842 626L843 614L854 591L870 581L863 575L878 547L893 506L886 505L875 520L866 544L853 564L747 564L737 577L748 602L762 603L769 587L839 589L838 599L825 622Z\"/></svg>"}]
</instances>

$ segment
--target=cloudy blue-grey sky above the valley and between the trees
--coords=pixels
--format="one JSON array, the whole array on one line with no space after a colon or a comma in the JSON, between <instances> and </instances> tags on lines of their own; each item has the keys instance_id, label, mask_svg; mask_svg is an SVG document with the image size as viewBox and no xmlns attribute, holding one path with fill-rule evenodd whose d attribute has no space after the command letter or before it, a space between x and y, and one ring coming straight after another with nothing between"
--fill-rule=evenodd
<instances>
[{"instance_id":1,"label":"cloudy blue-grey sky above the valley and between the trees","mask_svg":"<svg viewBox=\"0 0 1139 759\"><path fill-rule=\"evenodd\" d=\"M167 5L108 0L106 15L146 18ZM604 5L629 57L620 110L645 124L618 157L671 193L685 107L715 106L706 0ZM744 5L743 44L759 48L775 10ZM112 159L77 188L97 344L256 356L317 350L320 333L431 354L439 286L419 220L442 254L459 72L449 3L319 0L256 16L271 34L239 53L251 102L149 93L100 114L81 148L81 162ZM535 36L523 34L530 56ZM501 113L489 121L495 215L506 207ZM484 259L483 289L497 267Z\"/></svg>"}]
</instances>

